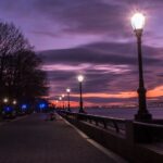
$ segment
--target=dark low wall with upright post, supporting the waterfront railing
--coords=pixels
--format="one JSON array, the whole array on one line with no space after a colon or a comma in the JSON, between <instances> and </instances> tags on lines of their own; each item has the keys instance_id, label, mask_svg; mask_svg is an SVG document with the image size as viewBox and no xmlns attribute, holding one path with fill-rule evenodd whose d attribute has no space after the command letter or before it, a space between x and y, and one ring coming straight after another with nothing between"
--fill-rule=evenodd
<instances>
[{"instance_id":1,"label":"dark low wall with upright post, supporting the waterfront railing","mask_svg":"<svg viewBox=\"0 0 163 163\"><path fill-rule=\"evenodd\" d=\"M111 149L131 163L163 163L163 153L154 150L152 146L135 142L134 125L131 122L127 122L126 136L122 136L76 118L68 116L64 116L64 118L83 130L91 139Z\"/></svg>"}]
</instances>

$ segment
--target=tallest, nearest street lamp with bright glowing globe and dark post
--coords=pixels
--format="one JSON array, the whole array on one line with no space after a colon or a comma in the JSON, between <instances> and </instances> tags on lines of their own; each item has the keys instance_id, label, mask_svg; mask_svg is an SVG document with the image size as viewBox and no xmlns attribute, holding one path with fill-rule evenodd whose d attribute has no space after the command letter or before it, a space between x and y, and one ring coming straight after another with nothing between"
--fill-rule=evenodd
<instances>
[{"instance_id":1,"label":"tallest, nearest street lamp with bright glowing globe and dark post","mask_svg":"<svg viewBox=\"0 0 163 163\"><path fill-rule=\"evenodd\" d=\"M145 15L141 13L136 13L131 17L131 26L137 37L138 45L138 66L139 66L139 88L138 88L138 98L139 98L139 110L135 115L137 121L149 121L152 118L151 114L147 110L146 103L146 88L143 84L143 67L142 67L142 53L141 53L141 36L145 26Z\"/></svg>"}]
</instances>

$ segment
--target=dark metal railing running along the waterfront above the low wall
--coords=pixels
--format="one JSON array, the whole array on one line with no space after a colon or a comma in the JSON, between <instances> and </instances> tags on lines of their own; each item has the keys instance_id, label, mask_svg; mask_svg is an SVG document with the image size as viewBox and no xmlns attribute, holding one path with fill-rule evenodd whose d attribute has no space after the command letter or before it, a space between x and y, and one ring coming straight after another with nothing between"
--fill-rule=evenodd
<instances>
[{"instance_id":1,"label":"dark metal railing running along the waterfront above the low wall","mask_svg":"<svg viewBox=\"0 0 163 163\"><path fill-rule=\"evenodd\" d=\"M75 120L101 127L105 130L112 130L120 136L133 137L133 141L136 142L158 142L163 141L163 121L151 121L151 122L135 122L125 118L116 118L110 116L98 116L84 113L67 112L64 110L57 111L60 115L65 118ZM133 133L133 134L131 134ZM133 136L131 136L133 135Z\"/></svg>"}]
</instances>

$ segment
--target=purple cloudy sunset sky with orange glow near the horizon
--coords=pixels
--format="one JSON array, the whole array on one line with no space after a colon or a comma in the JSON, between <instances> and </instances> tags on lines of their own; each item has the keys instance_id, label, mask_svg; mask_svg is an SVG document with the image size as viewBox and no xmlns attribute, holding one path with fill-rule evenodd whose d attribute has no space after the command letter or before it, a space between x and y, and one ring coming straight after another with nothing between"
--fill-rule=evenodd
<instances>
[{"instance_id":1,"label":"purple cloudy sunset sky with orange glow near the horizon","mask_svg":"<svg viewBox=\"0 0 163 163\"><path fill-rule=\"evenodd\" d=\"M137 103L138 62L130 17L146 15L142 37L148 102L163 98L162 0L0 0L0 20L13 22L42 58L49 98L83 74L85 105Z\"/></svg>"}]
</instances>

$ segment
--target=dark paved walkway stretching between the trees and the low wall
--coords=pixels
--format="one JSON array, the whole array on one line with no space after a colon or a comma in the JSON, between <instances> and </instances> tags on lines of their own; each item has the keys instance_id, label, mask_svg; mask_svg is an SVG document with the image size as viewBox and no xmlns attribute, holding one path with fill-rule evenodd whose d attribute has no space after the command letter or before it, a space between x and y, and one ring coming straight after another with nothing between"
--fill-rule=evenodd
<instances>
[{"instance_id":1,"label":"dark paved walkway stretching between the trees and the low wall","mask_svg":"<svg viewBox=\"0 0 163 163\"><path fill-rule=\"evenodd\" d=\"M45 118L33 114L1 125L0 163L115 163L62 118Z\"/></svg>"}]
</instances>

